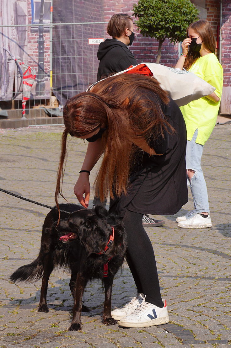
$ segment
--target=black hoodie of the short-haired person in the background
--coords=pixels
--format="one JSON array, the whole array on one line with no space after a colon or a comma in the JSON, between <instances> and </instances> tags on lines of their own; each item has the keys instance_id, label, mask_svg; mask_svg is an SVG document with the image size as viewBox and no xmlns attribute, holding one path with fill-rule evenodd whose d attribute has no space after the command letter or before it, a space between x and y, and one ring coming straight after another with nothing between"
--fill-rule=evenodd
<instances>
[{"instance_id":1,"label":"black hoodie of the short-haired person in the background","mask_svg":"<svg viewBox=\"0 0 231 348\"><path fill-rule=\"evenodd\" d=\"M137 65L134 55L127 45L116 39L106 39L99 44L97 52L99 67L97 81L111 73L127 69L130 65Z\"/></svg>"}]
</instances>

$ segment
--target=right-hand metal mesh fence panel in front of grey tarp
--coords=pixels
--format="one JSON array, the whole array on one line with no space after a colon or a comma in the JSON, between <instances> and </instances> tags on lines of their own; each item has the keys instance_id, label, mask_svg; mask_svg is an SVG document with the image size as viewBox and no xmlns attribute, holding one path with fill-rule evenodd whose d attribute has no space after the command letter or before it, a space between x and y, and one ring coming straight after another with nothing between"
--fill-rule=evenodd
<instances>
[{"instance_id":1,"label":"right-hand metal mesh fence panel in front of grey tarp","mask_svg":"<svg viewBox=\"0 0 231 348\"><path fill-rule=\"evenodd\" d=\"M104 23L55 25L53 91L62 105L96 81L98 44L88 44L88 40L103 38L104 32Z\"/></svg>"}]
</instances>

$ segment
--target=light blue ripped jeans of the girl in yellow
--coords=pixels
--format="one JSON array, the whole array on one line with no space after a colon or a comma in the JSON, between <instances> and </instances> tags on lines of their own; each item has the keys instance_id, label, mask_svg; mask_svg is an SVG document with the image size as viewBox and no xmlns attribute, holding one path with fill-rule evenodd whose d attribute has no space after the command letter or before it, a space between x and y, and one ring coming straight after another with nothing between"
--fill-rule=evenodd
<instances>
[{"instance_id":1,"label":"light blue ripped jeans of the girl in yellow","mask_svg":"<svg viewBox=\"0 0 231 348\"><path fill-rule=\"evenodd\" d=\"M197 144L198 129L195 130L192 140L187 140L186 147L186 169L194 171L194 175L190 181L187 173L187 183L191 188L194 212L193 213L209 213L208 192L204 174L201 169L201 156L204 145Z\"/></svg>"}]
</instances>

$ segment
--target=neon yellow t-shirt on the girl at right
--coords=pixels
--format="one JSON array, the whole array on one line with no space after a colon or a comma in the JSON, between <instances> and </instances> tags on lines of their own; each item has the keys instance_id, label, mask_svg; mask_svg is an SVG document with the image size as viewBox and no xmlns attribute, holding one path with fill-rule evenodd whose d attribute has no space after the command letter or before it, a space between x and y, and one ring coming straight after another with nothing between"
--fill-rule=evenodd
<instances>
[{"instance_id":1,"label":"neon yellow t-shirt on the girl at right","mask_svg":"<svg viewBox=\"0 0 231 348\"><path fill-rule=\"evenodd\" d=\"M223 69L214 53L200 57L192 64L189 71L215 87L214 93L221 98ZM221 100L216 103L202 97L180 107L187 128L187 140L192 140L193 134L198 128L196 143L205 144L216 124L220 102Z\"/></svg>"}]
</instances>

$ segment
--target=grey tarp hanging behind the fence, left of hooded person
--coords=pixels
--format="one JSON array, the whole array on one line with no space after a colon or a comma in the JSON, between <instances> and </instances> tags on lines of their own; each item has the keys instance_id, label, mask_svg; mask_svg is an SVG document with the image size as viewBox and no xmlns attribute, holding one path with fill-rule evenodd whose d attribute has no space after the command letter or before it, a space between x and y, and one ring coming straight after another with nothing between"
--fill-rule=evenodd
<instances>
[{"instance_id":1,"label":"grey tarp hanging behind the fence, left of hooded person","mask_svg":"<svg viewBox=\"0 0 231 348\"><path fill-rule=\"evenodd\" d=\"M101 22L103 1L53 1L54 23ZM90 10L91 9L91 10ZM94 9L92 11L92 9ZM53 27L53 93L61 105L96 81L98 45L88 38L103 38L104 24L70 24Z\"/></svg>"}]
</instances>

